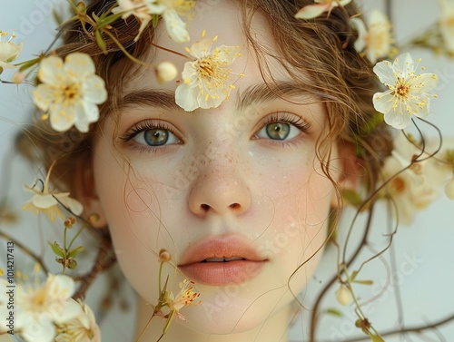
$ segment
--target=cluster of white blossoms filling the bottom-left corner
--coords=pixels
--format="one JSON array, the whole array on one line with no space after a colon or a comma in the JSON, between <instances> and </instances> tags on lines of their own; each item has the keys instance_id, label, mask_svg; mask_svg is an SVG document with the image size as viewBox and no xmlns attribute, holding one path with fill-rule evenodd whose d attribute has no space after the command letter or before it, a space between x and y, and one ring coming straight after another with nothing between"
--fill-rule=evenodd
<instances>
[{"instance_id":1,"label":"cluster of white blossoms filling the bottom-left corner","mask_svg":"<svg viewBox=\"0 0 454 342\"><path fill-rule=\"evenodd\" d=\"M9 309L7 282L0 282L0 315ZM94 313L84 301L74 300L74 279L49 274L44 283L18 283L15 286L15 334L30 342L100 342L101 333ZM0 320L0 333L11 331L8 321Z\"/></svg>"}]
</instances>

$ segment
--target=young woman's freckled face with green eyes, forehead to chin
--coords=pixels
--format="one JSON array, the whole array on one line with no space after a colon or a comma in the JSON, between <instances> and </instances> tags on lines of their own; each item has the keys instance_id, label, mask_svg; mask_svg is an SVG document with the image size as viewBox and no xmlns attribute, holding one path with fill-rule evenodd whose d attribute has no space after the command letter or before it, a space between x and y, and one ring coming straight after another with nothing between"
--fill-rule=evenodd
<instances>
[{"instance_id":1,"label":"young woman's freckled face with green eyes, forehead to chin","mask_svg":"<svg viewBox=\"0 0 454 342\"><path fill-rule=\"evenodd\" d=\"M94 143L95 190L124 275L146 302L157 302L157 253L168 249L201 293L200 306L183 308L185 324L239 332L288 307L289 286L301 291L318 263L334 197L315 151L326 113L310 94L289 92L291 78L271 58L289 101L268 91L232 2L197 6L188 24L192 42L206 30L219 35L214 45L242 46L230 99L184 112L173 100L178 82L157 83L143 69L127 83L119 122L108 118ZM254 16L259 43L272 49L267 25ZM156 37L187 54L161 27ZM163 61L179 70L187 62L157 50L153 63Z\"/></svg>"}]
</instances>

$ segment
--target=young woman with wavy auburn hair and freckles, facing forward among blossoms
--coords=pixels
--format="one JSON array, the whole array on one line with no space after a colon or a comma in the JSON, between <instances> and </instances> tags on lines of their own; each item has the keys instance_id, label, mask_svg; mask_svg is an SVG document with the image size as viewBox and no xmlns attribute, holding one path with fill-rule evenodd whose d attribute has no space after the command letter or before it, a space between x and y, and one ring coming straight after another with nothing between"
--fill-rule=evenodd
<instances>
[{"instance_id":1,"label":"young woman with wavy auburn hair and freckles, facing forward among blossoms","mask_svg":"<svg viewBox=\"0 0 454 342\"><path fill-rule=\"evenodd\" d=\"M102 17L115 4L94 1L86 14ZM183 33L172 29L170 10L155 28L136 10L92 40L93 24L64 26L55 54L76 53L80 73L82 54L91 56L108 100L92 99L103 103L99 120L85 107L93 117L76 124L83 132L54 132L70 120L62 110L31 136L54 185L112 238L139 298L134 338L162 336L162 320L148 324L159 294L187 279L201 303L192 297L178 309L185 321L175 316L163 341L288 340L294 304L304 305L296 296L339 220L341 192L370 197L392 150L388 126L371 124L379 88L354 47L358 9L336 4L301 20L295 14L312 2L201 0ZM175 42L186 33L190 42ZM163 83L154 66L168 62L183 75ZM58 79L47 65L42 83ZM73 85L64 92L80 100ZM165 269L168 280L158 261L165 253L176 269Z\"/></svg>"}]
</instances>

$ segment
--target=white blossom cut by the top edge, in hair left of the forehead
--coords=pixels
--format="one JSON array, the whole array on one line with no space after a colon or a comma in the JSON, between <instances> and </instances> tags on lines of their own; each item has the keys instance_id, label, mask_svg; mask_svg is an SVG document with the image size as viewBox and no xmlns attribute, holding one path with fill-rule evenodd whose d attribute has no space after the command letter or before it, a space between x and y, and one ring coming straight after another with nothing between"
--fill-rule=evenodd
<instances>
[{"instance_id":1,"label":"white blossom cut by the top edge, in hair left of the forehead","mask_svg":"<svg viewBox=\"0 0 454 342\"><path fill-rule=\"evenodd\" d=\"M179 15L185 15L194 2L192 0L117 0L118 7L112 12L124 12L125 19L134 15L141 23L139 33L134 38L136 42L146 25L152 20L152 15L162 15L167 33L173 41L184 43L189 41L189 33L186 31L186 24Z\"/></svg>"}]
</instances>

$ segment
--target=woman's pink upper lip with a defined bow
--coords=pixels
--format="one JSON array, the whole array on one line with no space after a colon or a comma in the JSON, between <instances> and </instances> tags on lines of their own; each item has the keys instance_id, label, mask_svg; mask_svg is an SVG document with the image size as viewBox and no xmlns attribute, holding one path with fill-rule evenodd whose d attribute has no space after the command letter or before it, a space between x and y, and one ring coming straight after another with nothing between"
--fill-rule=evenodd
<instances>
[{"instance_id":1,"label":"woman's pink upper lip with a defined bow","mask_svg":"<svg viewBox=\"0 0 454 342\"><path fill-rule=\"evenodd\" d=\"M248 261L267 261L250 243L238 235L208 237L183 252L178 266L186 266L209 258L242 258Z\"/></svg>"}]
</instances>

